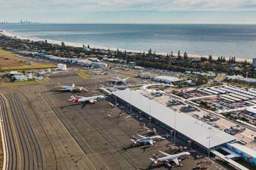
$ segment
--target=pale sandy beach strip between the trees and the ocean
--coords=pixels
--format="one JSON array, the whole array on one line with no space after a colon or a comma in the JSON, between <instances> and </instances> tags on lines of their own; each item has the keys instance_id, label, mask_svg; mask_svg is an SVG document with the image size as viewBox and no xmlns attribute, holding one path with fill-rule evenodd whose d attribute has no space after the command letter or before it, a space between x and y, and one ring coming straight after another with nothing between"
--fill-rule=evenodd
<instances>
[{"instance_id":1,"label":"pale sandy beach strip between the trees and the ocean","mask_svg":"<svg viewBox=\"0 0 256 170\"><path fill-rule=\"evenodd\" d=\"M56 45L61 45L61 42L64 42L65 45L67 46L73 46L73 47L80 47L82 48L83 44L80 43L72 43L72 42L68 42L68 41L56 41L56 40L50 40L50 39L43 39L43 38L36 38L36 37L25 37L25 36L21 36L18 34L14 34L14 33L10 33L9 31L6 31L4 29L0 29L0 35L4 35L4 36L9 36L9 37L13 37L16 36L18 39L21 40L29 40L29 41L45 41L47 40L48 43L51 44L56 44ZM85 45L87 46L87 45ZM90 45L90 48L97 48L97 49L101 49L101 50L110 50L110 51L116 51L117 48L114 47L105 47L105 46L94 46L94 45ZM120 51L127 51L127 52L131 52L131 53L143 53L144 51L141 50L127 50L127 49L123 49L123 48L118 48ZM147 51L145 51L147 53ZM156 52L157 55L163 55L166 56L167 53L164 52ZM174 56L177 56L178 53L173 53ZM201 57L206 57L208 58L208 56L205 55L189 55L188 54L188 58L195 58L195 59L200 59ZM212 56L213 60L217 60L218 56ZM226 56L224 56L226 58ZM226 61L228 61L229 57L226 58ZM245 60L247 60L248 63L252 63L252 58L240 58L240 57L235 57L236 61L238 62L243 62Z\"/></svg>"}]
</instances>

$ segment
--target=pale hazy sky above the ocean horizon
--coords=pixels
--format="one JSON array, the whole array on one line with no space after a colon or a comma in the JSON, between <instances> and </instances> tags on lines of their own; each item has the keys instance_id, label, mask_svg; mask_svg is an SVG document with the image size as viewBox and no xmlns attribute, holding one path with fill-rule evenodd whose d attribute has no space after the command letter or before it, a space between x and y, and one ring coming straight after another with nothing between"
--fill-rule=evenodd
<instances>
[{"instance_id":1,"label":"pale hazy sky above the ocean horizon","mask_svg":"<svg viewBox=\"0 0 256 170\"><path fill-rule=\"evenodd\" d=\"M256 0L0 0L0 21L256 24Z\"/></svg>"}]
</instances>

